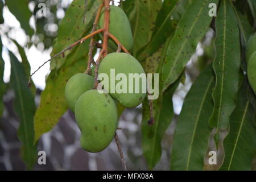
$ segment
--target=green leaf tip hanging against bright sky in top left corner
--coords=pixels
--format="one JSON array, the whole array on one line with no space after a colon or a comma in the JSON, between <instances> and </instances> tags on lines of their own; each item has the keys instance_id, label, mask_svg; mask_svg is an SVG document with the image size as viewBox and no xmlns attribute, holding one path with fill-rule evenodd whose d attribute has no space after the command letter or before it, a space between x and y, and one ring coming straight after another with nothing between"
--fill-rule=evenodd
<instances>
[{"instance_id":1,"label":"green leaf tip hanging against bright sky in top left corner","mask_svg":"<svg viewBox=\"0 0 256 182\"><path fill-rule=\"evenodd\" d=\"M30 18L32 16L31 11L28 9L29 0L5 0L5 5L8 6L11 13L20 22L20 27L24 29L27 35L32 36L34 30L30 27Z\"/></svg>"}]
</instances>

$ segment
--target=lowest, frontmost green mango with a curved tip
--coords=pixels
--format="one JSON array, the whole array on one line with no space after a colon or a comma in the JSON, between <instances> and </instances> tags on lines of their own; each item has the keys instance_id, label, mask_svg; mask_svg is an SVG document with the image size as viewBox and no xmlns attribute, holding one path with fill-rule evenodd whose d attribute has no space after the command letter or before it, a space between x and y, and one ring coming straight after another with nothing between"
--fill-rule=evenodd
<instances>
[{"instance_id":1,"label":"lowest, frontmost green mango with a curved tip","mask_svg":"<svg viewBox=\"0 0 256 182\"><path fill-rule=\"evenodd\" d=\"M75 117L84 150L100 152L109 146L118 125L117 106L109 94L97 90L82 94L76 103Z\"/></svg>"}]
</instances>

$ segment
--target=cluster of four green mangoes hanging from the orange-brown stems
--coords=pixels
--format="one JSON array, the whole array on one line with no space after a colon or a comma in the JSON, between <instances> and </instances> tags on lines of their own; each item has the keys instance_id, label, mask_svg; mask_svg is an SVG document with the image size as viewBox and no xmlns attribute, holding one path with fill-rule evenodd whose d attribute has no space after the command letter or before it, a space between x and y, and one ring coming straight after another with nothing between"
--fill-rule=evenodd
<instances>
[{"instance_id":1,"label":"cluster of four green mangoes hanging from the orange-brown stems","mask_svg":"<svg viewBox=\"0 0 256 182\"><path fill-rule=\"evenodd\" d=\"M104 26L104 14L101 14L99 26ZM123 10L110 6L109 30L127 49L133 46L133 36L129 20ZM110 48L117 45L109 40ZM98 74L104 73L111 77L110 70L115 74L144 73L141 64L127 53L110 53L101 61ZM115 78L114 78L115 79ZM99 80L100 84L102 80ZM114 85L118 81L114 81ZM113 84L113 82L112 82ZM110 93L112 85L106 84L101 89L94 88L94 68L92 76L77 73L65 86L65 98L69 108L75 112L75 118L81 130L81 147L88 152L100 152L109 146L118 127L117 104L124 107L136 107L142 103L146 93ZM129 85L126 85L129 86ZM140 90L142 85L139 85Z\"/></svg>"}]
</instances>

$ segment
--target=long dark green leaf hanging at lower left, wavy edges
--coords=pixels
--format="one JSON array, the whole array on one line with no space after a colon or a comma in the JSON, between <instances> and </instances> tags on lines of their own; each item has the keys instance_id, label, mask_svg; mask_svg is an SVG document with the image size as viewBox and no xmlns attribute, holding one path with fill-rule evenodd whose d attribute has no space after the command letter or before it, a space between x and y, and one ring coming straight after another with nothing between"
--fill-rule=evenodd
<instances>
[{"instance_id":1,"label":"long dark green leaf hanging at lower left, wavy edges","mask_svg":"<svg viewBox=\"0 0 256 182\"><path fill-rule=\"evenodd\" d=\"M11 86L15 92L14 109L20 119L18 129L18 138L22 143L21 153L22 159L27 165L28 169L34 166L37 153L36 146L34 146L34 123L33 117L36 106L34 96L27 87L27 77L24 68L18 59L9 52L11 60Z\"/></svg>"}]
</instances>

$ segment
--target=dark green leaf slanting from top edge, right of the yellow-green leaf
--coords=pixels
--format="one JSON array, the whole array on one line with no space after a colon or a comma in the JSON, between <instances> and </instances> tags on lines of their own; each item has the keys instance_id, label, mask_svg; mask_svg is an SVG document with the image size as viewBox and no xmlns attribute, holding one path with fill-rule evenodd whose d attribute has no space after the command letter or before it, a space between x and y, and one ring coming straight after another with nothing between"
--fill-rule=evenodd
<instances>
[{"instance_id":1,"label":"dark green leaf slanting from top edge, right of the yellow-green leaf","mask_svg":"<svg viewBox=\"0 0 256 182\"><path fill-rule=\"evenodd\" d=\"M174 34L177 22L187 7L187 0L164 0L163 5L156 17L152 38L148 44L138 51L138 60L142 61L151 56L167 38Z\"/></svg>"}]
</instances>

